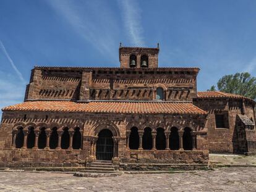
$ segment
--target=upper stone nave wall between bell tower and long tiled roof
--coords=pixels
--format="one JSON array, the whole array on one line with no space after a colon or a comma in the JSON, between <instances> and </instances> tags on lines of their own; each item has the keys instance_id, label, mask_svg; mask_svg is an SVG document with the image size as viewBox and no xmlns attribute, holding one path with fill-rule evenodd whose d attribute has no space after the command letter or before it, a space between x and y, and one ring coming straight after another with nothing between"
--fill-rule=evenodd
<instances>
[{"instance_id":1,"label":"upper stone nave wall between bell tower and long tiled roof","mask_svg":"<svg viewBox=\"0 0 256 192\"><path fill-rule=\"evenodd\" d=\"M35 67L25 100L73 101L156 99L161 87L166 101L192 101L196 97L198 69L122 69Z\"/></svg>"}]
</instances>

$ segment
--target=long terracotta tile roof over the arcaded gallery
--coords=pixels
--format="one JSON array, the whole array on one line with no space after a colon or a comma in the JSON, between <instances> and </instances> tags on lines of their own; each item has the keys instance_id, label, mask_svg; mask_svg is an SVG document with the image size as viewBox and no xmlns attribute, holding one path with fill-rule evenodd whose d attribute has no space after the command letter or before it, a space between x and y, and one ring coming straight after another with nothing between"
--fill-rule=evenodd
<instances>
[{"instance_id":1,"label":"long terracotta tile roof over the arcaded gallery","mask_svg":"<svg viewBox=\"0 0 256 192\"><path fill-rule=\"evenodd\" d=\"M207 114L190 102L28 101L4 107L2 111L59 111L124 114Z\"/></svg>"}]
</instances>

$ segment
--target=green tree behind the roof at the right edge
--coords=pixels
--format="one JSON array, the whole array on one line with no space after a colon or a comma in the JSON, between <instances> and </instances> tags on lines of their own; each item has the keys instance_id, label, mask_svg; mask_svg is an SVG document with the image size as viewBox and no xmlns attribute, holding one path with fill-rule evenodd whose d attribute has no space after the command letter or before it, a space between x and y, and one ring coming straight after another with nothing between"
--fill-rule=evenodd
<instances>
[{"instance_id":1,"label":"green tree behind the roof at the right edge","mask_svg":"<svg viewBox=\"0 0 256 192\"><path fill-rule=\"evenodd\" d=\"M247 98L256 99L256 78L251 77L250 73L224 75L217 85L218 90L225 93L240 94Z\"/></svg>"}]
</instances>

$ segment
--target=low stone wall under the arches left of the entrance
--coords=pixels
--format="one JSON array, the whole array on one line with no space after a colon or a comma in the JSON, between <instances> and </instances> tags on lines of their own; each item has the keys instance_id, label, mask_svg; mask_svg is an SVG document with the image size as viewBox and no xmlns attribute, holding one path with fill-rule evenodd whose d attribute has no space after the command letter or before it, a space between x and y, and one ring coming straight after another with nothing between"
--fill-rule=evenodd
<instances>
[{"instance_id":1,"label":"low stone wall under the arches left of the entrance","mask_svg":"<svg viewBox=\"0 0 256 192\"><path fill-rule=\"evenodd\" d=\"M86 157L76 149L0 149L0 167L84 167Z\"/></svg>"}]
</instances>

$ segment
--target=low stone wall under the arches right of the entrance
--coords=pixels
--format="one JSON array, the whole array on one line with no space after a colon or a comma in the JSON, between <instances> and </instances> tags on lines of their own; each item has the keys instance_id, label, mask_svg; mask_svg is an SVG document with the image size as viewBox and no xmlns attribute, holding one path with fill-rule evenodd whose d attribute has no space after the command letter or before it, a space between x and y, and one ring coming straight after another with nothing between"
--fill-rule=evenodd
<instances>
[{"instance_id":1,"label":"low stone wall under the arches right of the entrance","mask_svg":"<svg viewBox=\"0 0 256 192\"><path fill-rule=\"evenodd\" d=\"M129 150L121 158L124 164L208 164L208 151Z\"/></svg>"}]
</instances>

